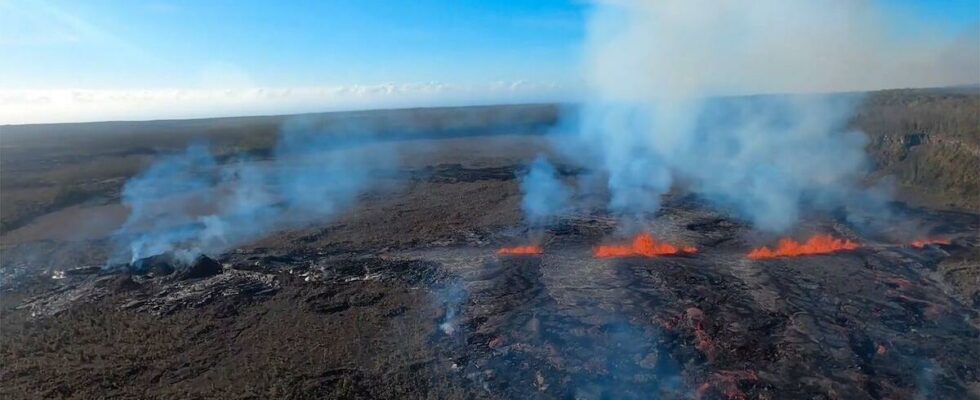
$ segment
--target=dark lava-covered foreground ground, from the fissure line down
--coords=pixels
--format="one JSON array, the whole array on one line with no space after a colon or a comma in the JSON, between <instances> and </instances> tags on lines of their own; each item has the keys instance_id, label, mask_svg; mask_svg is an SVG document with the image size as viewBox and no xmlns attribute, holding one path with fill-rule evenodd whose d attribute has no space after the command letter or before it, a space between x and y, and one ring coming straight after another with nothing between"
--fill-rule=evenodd
<instances>
[{"instance_id":1,"label":"dark lava-covered foreground ground, from the fissure line down","mask_svg":"<svg viewBox=\"0 0 980 400\"><path fill-rule=\"evenodd\" d=\"M203 278L83 268L3 296L4 398L978 398L977 298L921 249L746 258L758 233L688 202L696 254L597 259L616 222L564 218L376 251L222 256ZM957 232L958 231L958 232ZM958 234L957 234L958 233ZM544 253L501 256L534 241ZM965 257L965 258L964 258ZM243 383L245 382L245 383Z\"/></svg>"}]
</instances>

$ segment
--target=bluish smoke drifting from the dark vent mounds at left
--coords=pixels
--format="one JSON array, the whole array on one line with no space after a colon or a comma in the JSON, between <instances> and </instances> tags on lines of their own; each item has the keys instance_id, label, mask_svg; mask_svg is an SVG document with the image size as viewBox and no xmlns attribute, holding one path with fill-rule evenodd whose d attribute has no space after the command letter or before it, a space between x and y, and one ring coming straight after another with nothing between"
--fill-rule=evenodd
<instances>
[{"instance_id":1,"label":"bluish smoke drifting from the dark vent mounds at left","mask_svg":"<svg viewBox=\"0 0 980 400\"><path fill-rule=\"evenodd\" d=\"M365 147L370 127L329 131L298 118L282 127L273 157L219 163L203 144L163 157L126 182L131 213L110 264L172 252L183 261L220 254L268 233L336 215L377 184L370 172L393 154ZM370 152L370 156L365 154Z\"/></svg>"}]
</instances>

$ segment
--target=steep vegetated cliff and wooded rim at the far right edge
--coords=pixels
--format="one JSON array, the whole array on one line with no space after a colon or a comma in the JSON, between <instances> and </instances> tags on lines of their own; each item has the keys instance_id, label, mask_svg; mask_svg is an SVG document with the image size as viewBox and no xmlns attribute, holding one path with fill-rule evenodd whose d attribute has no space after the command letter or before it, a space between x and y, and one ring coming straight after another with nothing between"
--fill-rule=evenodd
<instances>
[{"instance_id":1,"label":"steep vegetated cliff and wooded rim at the far right edge","mask_svg":"<svg viewBox=\"0 0 980 400\"><path fill-rule=\"evenodd\" d=\"M871 93L854 124L868 135L873 178L892 177L903 200L980 210L980 92Z\"/></svg>"}]
</instances>

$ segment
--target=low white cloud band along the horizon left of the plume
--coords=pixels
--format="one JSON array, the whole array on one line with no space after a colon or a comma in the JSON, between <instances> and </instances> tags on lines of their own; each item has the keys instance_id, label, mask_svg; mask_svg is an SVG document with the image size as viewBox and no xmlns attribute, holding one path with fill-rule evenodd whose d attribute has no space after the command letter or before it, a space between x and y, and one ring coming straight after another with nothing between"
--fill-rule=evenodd
<instances>
[{"instance_id":1,"label":"low white cloud band along the horizon left of the plume","mask_svg":"<svg viewBox=\"0 0 980 400\"><path fill-rule=\"evenodd\" d=\"M205 118L370 108L569 100L574 90L526 81L318 87L0 89L0 124Z\"/></svg>"}]
</instances>

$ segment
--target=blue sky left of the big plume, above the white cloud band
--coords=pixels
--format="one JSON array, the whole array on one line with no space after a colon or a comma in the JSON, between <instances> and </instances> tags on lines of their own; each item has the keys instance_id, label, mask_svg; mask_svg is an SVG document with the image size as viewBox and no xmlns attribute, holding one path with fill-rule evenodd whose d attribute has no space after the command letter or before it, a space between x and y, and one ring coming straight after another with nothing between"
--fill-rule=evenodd
<instances>
[{"instance_id":1,"label":"blue sky left of the big plume, above the white cloud band","mask_svg":"<svg viewBox=\"0 0 980 400\"><path fill-rule=\"evenodd\" d=\"M32 89L186 87L222 79L277 87L568 80L584 18L582 4L565 1L94 0L0 7L3 86Z\"/></svg>"}]
</instances>

